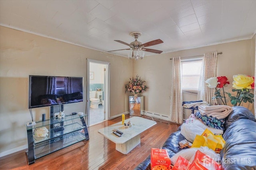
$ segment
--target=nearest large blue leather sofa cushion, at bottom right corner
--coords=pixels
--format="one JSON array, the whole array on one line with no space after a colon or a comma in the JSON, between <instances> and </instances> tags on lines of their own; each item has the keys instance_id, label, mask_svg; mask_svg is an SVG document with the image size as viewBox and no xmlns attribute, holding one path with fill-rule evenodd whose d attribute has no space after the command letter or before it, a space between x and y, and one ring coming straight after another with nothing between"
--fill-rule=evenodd
<instances>
[{"instance_id":1,"label":"nearest large blue leather sofa cushion, at bottom right corner","mask_svg":"<svg viewBox=\"0 0 256 170\"><path fill-rule=\"evenodd\" d=\"M220 152L224 170L256 169L256 122L238 119L223 134L226 141Z\"/></svg>"}]
</instances>

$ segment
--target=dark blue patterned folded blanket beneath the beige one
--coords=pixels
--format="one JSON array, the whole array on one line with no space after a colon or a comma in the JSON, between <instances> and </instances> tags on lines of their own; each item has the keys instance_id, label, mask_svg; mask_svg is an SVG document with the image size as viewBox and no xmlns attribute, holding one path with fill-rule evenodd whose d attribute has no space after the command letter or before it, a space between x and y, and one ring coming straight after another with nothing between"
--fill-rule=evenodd
<instances>
[{"instance_id":1,"label":"dark blue patterned folded blanket beneath the beige one","mask_svg":"<svg viewBox=\"0 0 256 170\"><path fill-rule=\"evenodd\" d=\"M217 119L216 117L201 115L200 112L196 112L195 117L208 127L224 130L225 119Z\"/></svg>"}]
</instances>

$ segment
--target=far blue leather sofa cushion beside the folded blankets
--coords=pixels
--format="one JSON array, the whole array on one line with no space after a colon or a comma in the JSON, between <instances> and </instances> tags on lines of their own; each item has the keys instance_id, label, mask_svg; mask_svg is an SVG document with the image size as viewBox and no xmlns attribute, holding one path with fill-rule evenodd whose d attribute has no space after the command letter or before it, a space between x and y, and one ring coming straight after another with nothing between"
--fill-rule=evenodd
<instances>
[{"instance_id":1,"label":"far blue leather sofa cushion beside the folded blankets","mask_svg":"<svg viewBox=\"0 0 256 170\"><path fill-rule=\"evenodd\" d=\"M228 117L226 117L224 129L228 129L230 124L238 119L250 119L252 121L256 121L252 112L246 107L234 106L232 109L233 111L228 115Z\"/></svg>"}]
</instances>

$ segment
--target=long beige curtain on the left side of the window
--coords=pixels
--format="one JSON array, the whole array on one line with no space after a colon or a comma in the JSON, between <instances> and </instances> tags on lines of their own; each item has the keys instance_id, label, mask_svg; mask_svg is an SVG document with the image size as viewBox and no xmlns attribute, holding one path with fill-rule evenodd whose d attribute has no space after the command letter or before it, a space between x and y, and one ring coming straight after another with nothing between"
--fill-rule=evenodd
<instances>
[{"instance_id":1,"label":"long beige curtain on the left side of the window","mask_svg":"<svg viewBox=\"0 0 256 170\"><path fill-rule=\"evenodd\" d=\"M172 82L170 95L170 119L183 123L180 57L172 58Z\"/></svg>"}]
</instances>

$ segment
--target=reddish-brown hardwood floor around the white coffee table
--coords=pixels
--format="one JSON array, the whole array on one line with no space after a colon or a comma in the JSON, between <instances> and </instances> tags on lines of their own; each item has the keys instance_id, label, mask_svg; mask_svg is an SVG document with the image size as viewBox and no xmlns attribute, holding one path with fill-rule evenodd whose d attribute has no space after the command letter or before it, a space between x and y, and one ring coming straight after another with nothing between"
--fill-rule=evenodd
<instances>
[{"instance_id":1,"label":"reddish-brown hardwood floor around the white coffee table","mask_svg":"<svg viewBox=\"0 0 256 170\"><path fill-rule=\"evenodd\" d=\"M126 115L128 119L130 115ZM152 119L148 116L142 116ZM98 129L122 121L122 117L88 128L90 140L82 141L44 156L28 165L25 150L0 158L0 169L14 170L133 170L150 155L151 148L160 148L178 128L178 124L155 119L156 125L141 134L141 143L128 154L116 150L115 143L98 133Z\"/></svg>"}]
</instances>

